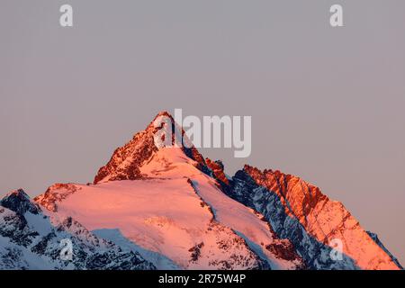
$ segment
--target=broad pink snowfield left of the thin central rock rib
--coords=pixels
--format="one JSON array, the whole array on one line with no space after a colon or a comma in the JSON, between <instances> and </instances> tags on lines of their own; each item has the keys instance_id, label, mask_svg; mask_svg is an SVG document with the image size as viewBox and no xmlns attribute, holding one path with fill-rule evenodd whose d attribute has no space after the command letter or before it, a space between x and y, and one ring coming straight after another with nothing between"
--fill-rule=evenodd
<instances>
[{"instance_id":1,"label":"broad pink snowfield left of the thin central rock rib","mask_svg":"<svg viewBox=\"0 0 405 288\"><path fill-rule=\"evenodd\" d=\"M213 219L187 178L75 185L54 217L72 215L87 229L120 229L146 250L182 268L256 269L262 261L231 229ZM41 198L38 199L41 202Z\"/></svg>"}]
</instances>

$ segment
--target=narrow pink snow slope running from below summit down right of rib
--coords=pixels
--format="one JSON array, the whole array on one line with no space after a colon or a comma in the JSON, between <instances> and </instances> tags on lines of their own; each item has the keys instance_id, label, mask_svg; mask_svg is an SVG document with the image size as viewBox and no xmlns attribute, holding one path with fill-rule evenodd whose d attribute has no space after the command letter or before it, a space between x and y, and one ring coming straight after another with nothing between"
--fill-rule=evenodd
<instances>
[{"instance_id":1,"label":"narrow pink snow slope running from below summit down right of rib","mask_svg":"<svg viewBox=\"0 0 405 288\"><path fill-rule=\"evenodd\" d=\"M290 241L277 238L267 222L262 220L262 215L230 199L220 191L214 179L196 166L192 159L184 157L180 148L161 148L147 165L140 168L140 172L148 177L186 176L194 191L211 207L215 219L235 230L257 255L267 260L272 269L303 267Z\"/></svg>"}]
</instances>

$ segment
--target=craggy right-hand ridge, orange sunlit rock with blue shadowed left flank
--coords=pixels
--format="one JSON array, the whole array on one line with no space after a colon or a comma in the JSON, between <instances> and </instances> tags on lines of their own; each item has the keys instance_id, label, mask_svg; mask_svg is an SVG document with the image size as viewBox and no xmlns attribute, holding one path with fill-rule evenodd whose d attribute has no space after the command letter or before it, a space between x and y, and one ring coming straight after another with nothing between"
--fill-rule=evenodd
<instances>
[{"instance_id":1,"label":"craggy right-hand ridge, orange sunlit rock with blue shadowed left flank","mask_svg":"<svg viewBox=\"0 0 405 288\"><path fill-rule=\"evenodd\" d=\"M320 188L297 176L245 166L227 191L263 213L277 235L290 239L312 269L401 268L341 202L331 201ZM343 258L334 261L330 252L337 241Z\"/></svg>"}]
</instances>

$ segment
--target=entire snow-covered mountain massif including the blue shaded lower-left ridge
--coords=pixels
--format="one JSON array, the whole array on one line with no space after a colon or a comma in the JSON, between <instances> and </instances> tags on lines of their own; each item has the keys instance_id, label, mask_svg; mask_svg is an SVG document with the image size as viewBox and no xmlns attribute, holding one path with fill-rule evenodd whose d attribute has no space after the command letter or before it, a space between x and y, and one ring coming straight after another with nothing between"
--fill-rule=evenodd
<instances>
[{"instance_id":1,"label":"entire snow-covered mountain massif including the blue shaded lower-left ridge","mask_svg":"<svg viewBox=\"0 0 405 288\"><path fill-rule=\"evenodd\" d=\"M167 112L162 116L176 125ZM204 159L194 147L156 145L161 129L152 121L117 148L94 184L54 184L35 203L22 191L5 196L0 267L401 268L373 233L319 188L251 166L229 177L220 161ZM61 238L72 238L80 257L58 259ZM337 238L341 259L330 257ZM18 256L12 262L9 251Z\"/></svg>"}]
</instances>

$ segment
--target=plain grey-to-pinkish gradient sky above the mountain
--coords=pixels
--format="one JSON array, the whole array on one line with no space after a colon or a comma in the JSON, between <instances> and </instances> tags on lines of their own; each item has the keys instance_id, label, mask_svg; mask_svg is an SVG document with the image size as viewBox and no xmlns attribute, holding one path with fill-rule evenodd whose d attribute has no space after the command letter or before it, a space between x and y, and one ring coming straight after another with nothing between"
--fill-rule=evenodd
<instances>
[{"instance_id":1,"label":"plain grey-to-pinkish gradient sky above the mountain","mask_svg":"<svg viewBox=\"0 0 405 288\"><path fill-rule=\"evenodd\" d=\"M73 28L58 24L66 3ZM402 0L2 0L0 194L91 182L161 110L251 115L251 157L202 153L229 174L302 176L404 265L404 13Z\"/></svg>"}]
</instances>

